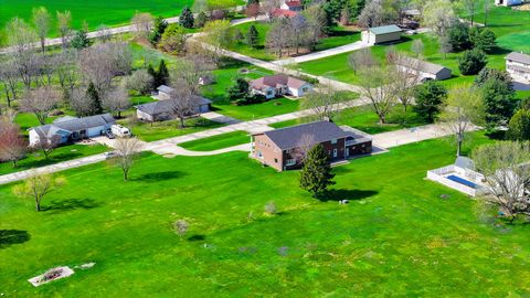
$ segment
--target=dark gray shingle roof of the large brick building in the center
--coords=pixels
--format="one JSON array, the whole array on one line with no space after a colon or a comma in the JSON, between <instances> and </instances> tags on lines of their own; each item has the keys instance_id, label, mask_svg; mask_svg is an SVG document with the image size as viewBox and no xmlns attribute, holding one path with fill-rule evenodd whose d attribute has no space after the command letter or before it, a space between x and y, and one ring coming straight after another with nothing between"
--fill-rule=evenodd
<instances>
[{"instance_id":1,"label":"dark gray shingle roof of the large brick building in the center","mask_svg":"<svg viewBox=\"0 0 530 298\"><path fill-rule=\"evenodd\" d=\"M314 145L332 139L356 137L353 132L344 131L330 121L303 124L266 131L264 134L282 150L298 147L306 136L309 136L314 140Z\"/></svg>"}]
</instances>

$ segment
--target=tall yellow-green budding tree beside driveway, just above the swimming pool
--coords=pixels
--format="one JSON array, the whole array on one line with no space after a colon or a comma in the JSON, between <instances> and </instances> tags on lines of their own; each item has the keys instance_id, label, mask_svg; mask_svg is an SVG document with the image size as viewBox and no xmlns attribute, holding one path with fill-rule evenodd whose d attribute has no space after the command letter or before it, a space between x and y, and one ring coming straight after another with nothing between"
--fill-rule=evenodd
<instances>
[{"instance_id":1,"label":"tall yellow-green budding tree beside driveway, just above the swimming pool","mask_svg":"<svg viewBox=\"0 0 530 298\"><path fill-rule=\"evenodd\" d=\"M460 85L449 92L445 103L445 110L439 116L439 121L456 137L456 156L462 153L465 134L474 126L484 123L484 105L480 92L470 85Z\"/></svg>"}]
</instances>

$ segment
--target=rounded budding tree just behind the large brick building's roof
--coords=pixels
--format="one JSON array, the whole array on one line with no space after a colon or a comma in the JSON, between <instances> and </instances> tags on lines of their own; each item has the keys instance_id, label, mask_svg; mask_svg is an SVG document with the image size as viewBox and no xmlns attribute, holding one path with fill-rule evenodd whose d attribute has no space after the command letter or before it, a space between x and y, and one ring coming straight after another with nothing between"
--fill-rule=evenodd
<instances>
[{"instance_id":1,"label":"rounded budding tree just behind the large brick building's roof","mask_svg":"<svg viewBox=\"0 0 530 298\"><path fill-rule=\"evenodd\" d=\"M343 100L329 84L320 84L316 88L318 92L311 92L305 96L301 107L311 109L318 120L331 120L340 113Z\"/></svg>"}]
</instances>

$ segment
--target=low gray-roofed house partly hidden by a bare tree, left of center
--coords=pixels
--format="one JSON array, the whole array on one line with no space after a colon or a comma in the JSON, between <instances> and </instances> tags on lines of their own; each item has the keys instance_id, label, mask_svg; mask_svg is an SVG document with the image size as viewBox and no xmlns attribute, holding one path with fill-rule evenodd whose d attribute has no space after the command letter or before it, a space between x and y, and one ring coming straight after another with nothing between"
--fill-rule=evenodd
<instances>
[{"instance_id":1,"label":"low gray-roofed house partly hidden by a bare tree, left of center","mask_svg":"<svg viewBox=\"0 0 530 298\"><path fill-rule=\"evenodd\" d=\"M174 100L178 99L166 99L139 105L136 107L136 116L138 119L147 121L165 121L173 119L174 115L171 109ZM189 116L210 111L212 100L197 96L197 102L198 105L194 113L190 114Z\"/></svg>"}]
</instances>

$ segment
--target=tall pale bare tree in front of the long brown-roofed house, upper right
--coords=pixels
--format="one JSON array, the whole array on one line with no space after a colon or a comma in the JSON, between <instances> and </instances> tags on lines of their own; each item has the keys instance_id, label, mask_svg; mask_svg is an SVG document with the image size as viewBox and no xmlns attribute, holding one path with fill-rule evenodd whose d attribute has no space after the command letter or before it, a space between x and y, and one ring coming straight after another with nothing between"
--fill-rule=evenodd
<instances>
[{"instance_id":1,"label":"tall pale bare tree in front of the long brown-roofed house, upper right","mask_svg":"<svg viewBox=\"0 0 530 298\"><path fill-rule=\"evenodd\" d=\"M403 53L396 53L389 63L395 67L389 74L393 78L393 93L406 111L414 100L414 87L422 81L422 70L425 68L424 62L410 58Z\"/></svg>"}]
</instances>

